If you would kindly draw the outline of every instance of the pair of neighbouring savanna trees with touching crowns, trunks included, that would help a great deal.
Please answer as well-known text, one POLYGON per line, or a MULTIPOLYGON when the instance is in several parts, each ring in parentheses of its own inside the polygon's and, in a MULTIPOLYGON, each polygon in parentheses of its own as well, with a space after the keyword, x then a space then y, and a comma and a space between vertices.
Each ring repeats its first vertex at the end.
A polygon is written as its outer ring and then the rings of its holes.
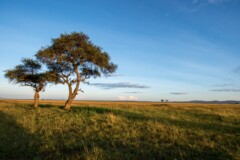
POLYGON ((78 92, 82 91, 81 82, 88 83, 91 77, 109 76, 117 69, 108 53, 94 45, 82 32, 61 34, 59 38, 52 39, 50 46, 40 49, 35 57, 24 58, 22 64, 5 71, 10 82, 33 88, 34 107, 38 107, 39 92, 44 91, 48 83, 53 83, 68 86, 65 109, 70 109, 78 92), (42 65, 46 66, 46 71, 41 70, 42 65))

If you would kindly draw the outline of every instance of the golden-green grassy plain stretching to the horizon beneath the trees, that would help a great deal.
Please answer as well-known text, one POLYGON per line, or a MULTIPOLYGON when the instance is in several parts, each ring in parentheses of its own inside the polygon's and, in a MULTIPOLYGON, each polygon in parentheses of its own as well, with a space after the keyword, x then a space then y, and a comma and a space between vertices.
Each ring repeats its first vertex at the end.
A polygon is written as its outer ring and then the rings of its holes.
POLYGON ((0 101, 0 159, 240 159, 239 104, 0 101))

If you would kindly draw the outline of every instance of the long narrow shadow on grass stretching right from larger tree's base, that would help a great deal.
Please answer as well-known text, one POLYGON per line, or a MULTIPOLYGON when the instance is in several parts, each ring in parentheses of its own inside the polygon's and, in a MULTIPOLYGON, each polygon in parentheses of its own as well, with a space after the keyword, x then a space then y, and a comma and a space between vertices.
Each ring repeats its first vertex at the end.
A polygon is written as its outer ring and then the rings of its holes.
MULTIPOLYGON (((174 125, 180 128, 185 128, 189 130, 205 130, 205 131, 211 131, 215 133, 236 133, 237 130, 240 129, 240 127, 236 126, 230 126, 227 124, 221 123, 221 121, 215 122, 214 119, 217 119, 215 115, 213 117, 209 114, 206 115, 206 119, 209 119, 209 123, 204 121, 186 121, 184 119, 182 120, 175 120, 171 119, 170 117, 162 117, 162 116, 147 116, 142 113, 137 112, 131 112, 131 111, 125 111, 125 110, 116 110, 116 109, 109 109, 109 108, 101 108, 101 107, 72 107, 72 112, 84 112, 84 113, 96 113, 96 114, 104 114, 104 113, 113 113, 118 116, 122 116, 124 118, 127 118, 129 120, 135 120, 135 121, 157 121, 163 124, 167 125, 174 125), (215 116, 215 117, 214 117, 215 116)), ((205 114, 193 114, 193 116, 199 116, 203 118, 205 114)))

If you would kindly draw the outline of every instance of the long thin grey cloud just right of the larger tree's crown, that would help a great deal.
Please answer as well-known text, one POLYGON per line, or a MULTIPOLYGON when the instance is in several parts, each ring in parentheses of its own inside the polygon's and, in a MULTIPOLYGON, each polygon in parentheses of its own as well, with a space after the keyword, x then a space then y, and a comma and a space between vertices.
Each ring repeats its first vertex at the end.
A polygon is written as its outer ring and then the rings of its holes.
POLYGON ((103 89, 114 89, 114 88, 138 88, 138 89, 146 89, 150 88, 150 86, 134 84, 128 82, 119 82, 119 83, 92 83, 92 86, 100 87, 103 89))

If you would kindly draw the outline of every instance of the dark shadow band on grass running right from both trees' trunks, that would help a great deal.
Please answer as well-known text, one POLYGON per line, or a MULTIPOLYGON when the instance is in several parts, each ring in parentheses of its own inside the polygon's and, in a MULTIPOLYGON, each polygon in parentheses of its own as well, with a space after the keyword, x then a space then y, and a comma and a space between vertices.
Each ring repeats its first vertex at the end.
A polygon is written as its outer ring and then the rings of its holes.
MULTIPOLYGON (((56 107, 58 109, 64 110, 64 106, 53 106, 53 105, 40 105, 40 108, 52 108, 56 107)), ((197 117, 198 120, 187 121, 184 119, 171 119, 166 116, 149 116, 144 115, 143 113, 119 110, 119 109, 111 109, 111 108, 103 108, 103 107, 92 107, 92 106, 81 106, 81 107, 71 107, 70 113, 83 113, 83 114, 105 114, 105 113, 113 113, 115 115, 127 118, 133 121, 154 121, 160 122, 166 125, 173 125, 184 129, 189 130, 204 130, 207 132, 219 133, 219 134, 236 134, 237 130, 240 130, 240 127, 236 125, 232 126, 229 124, 222 123, 222 120, 218 115, 206 114, 206 113, 195 113, 195 112, 183 112, 182 114, 187 115, 189 117, 197 117), (207 120, 204 121, 204 120, 207 120)))

